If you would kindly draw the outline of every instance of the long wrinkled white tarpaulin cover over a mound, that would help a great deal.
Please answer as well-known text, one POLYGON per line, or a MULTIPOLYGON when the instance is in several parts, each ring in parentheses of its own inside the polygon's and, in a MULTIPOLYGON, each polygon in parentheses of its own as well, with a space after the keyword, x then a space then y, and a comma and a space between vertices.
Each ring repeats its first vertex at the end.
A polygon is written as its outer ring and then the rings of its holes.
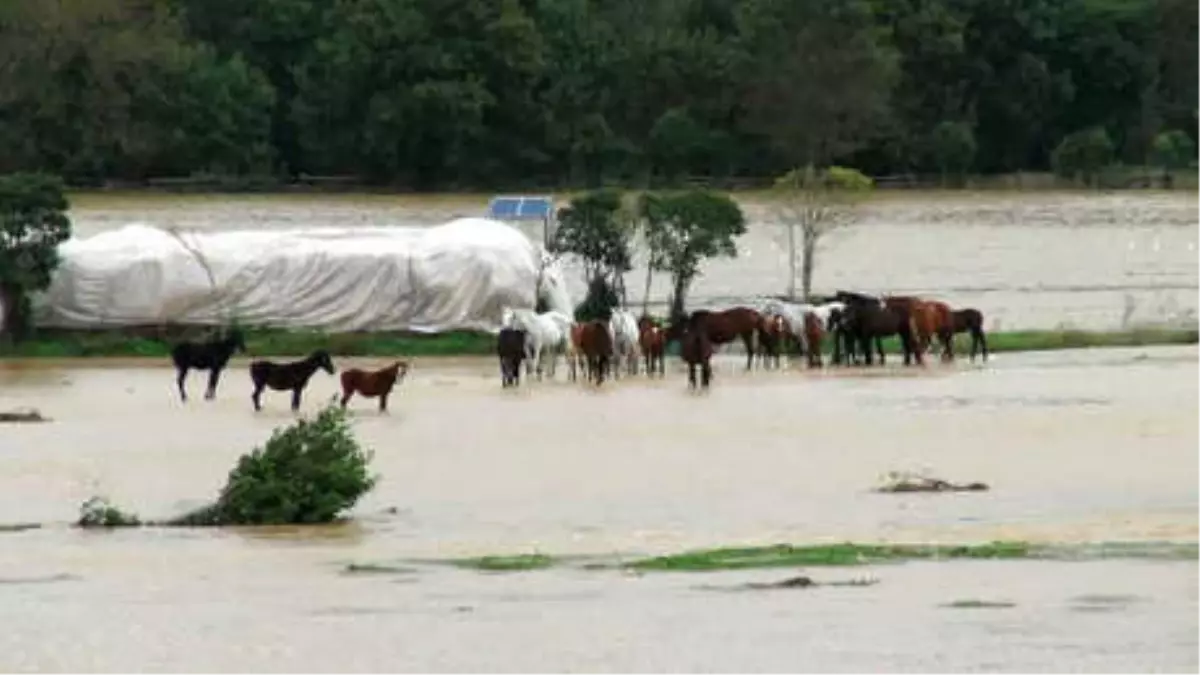
MULTIPOLYGON (((62 264, 36 300, 40 325, 496 330, 505 305, 534 306, 544 259, 517 228, 479 217, 178 234, 130 225, 59 251, 62 264)), ((570 312, 565 288, 558 268, 546 268, 542 297, 570 312)))

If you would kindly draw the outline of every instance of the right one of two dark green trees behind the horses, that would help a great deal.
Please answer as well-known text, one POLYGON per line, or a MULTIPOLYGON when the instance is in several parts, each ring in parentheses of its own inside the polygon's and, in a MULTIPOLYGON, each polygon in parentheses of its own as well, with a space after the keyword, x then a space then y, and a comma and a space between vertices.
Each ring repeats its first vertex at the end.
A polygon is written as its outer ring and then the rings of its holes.
POLYGON ((746 231, 745 215, 737 202, 710 190, 648 192, 638 210, 650 267, 671 274, 671 316, 680 316, 701 263, 718 256, 737 257, 737 238, 746 231))

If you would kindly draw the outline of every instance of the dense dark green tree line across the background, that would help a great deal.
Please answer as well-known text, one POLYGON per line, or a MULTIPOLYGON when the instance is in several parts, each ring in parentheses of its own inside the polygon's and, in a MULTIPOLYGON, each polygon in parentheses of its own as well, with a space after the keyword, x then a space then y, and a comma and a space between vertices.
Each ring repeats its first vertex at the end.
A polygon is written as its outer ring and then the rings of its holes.
POLYGON ((0 173, 76 184, 995 173, 1171 131, 1195 0, 0 2, 0 173))

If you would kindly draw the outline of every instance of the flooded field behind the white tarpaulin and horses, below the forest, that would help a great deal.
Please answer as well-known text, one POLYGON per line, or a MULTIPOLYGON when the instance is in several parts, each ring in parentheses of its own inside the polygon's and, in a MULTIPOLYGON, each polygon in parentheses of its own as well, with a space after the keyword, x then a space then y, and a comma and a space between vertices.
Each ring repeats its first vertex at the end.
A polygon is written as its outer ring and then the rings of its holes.
MULTIPOLYGON (((724 304, 787 286, 784 231, 761 199, 737 259, 706 264, 697 303, 724 304)), ((437 225, 482 215, 487 196, 137 196, 73 202, 80 235, 144 222, 181 228, 437 225)), ((541 237, 540 226, 527 232, 541 237)), ((899 193, 832 234, 818 291, 929 293, 983 309, 991 330, 1189 325, 1200 307, 1200 196, 1189 192, 899 193)), ((626 277, 640 303, 644 256, 626 277)), ((570 275, 582 298, 580 274, 570 275)), ((666 279, 650 299, 665 300, 666 279)))

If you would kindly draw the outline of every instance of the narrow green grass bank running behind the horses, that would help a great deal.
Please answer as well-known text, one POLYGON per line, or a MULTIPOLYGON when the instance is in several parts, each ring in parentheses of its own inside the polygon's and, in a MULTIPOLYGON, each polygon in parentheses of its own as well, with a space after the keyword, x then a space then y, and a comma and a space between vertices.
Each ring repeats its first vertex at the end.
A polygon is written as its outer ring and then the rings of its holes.
MULTIPOLYGON (((494 353, 496 338, 488 333, 457 330, 436 335, 413 333, 341 333, 317 330, 246 329, 246 348, 252 356, 302 357, 328 350, 341 357, 460 357, 494 353)), ((25 342, 0 342, 0 358, 146 357, 168 358, 182 335, 150 336, 134 330, 38 330, 25 342)), ((198 334, 193 334, 198 336, 198 334)), ((1138 347, 1200 344, 1200 330, 1142 328, 1133 330, 1020 330, 988 336, 990 352, 1070 350, 1081 347, 1138 347)), ((887 353, 900 353, 895 339, 883 344, 887 353)), ((970 353, 965 335, 955 340, 955 353, 970 353)), ((829 345, 826 345, 829 351, 829 345)))

